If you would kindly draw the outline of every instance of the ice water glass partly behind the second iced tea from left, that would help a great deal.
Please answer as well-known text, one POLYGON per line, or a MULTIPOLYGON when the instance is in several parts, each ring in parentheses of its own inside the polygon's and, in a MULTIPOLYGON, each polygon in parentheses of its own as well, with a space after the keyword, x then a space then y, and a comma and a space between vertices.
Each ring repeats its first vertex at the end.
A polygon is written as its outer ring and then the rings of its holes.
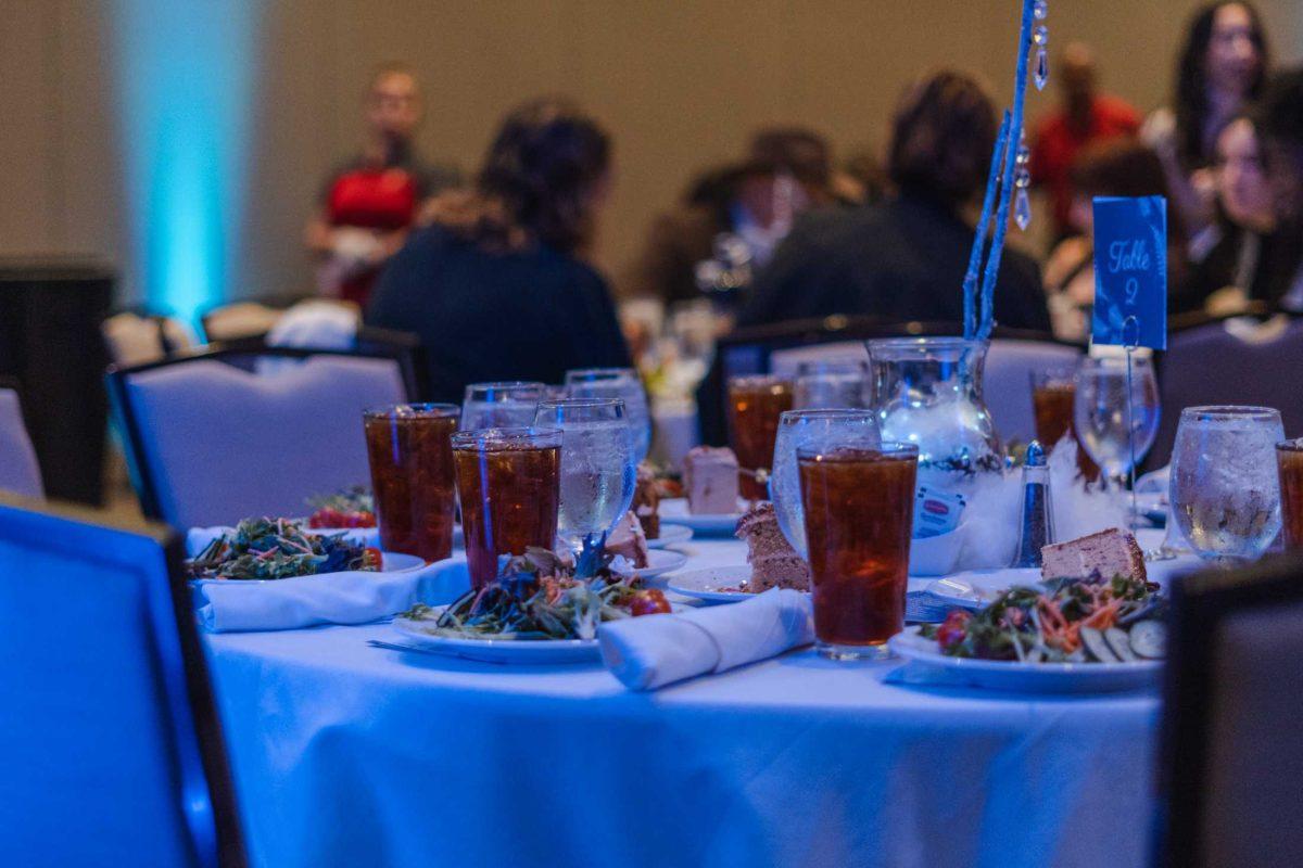
POLYGON ((543 401, 534 424, 562 432, 556 535, 577 554, 586 537, 610 531, 633 502, 635 432, 619 398, 543 401))

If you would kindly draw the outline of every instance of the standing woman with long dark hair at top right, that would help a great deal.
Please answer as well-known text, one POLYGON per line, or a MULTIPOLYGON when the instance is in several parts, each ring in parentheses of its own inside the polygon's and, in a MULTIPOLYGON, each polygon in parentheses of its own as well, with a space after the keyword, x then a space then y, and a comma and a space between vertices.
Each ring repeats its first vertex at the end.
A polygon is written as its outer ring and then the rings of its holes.
POLYGON ((1204 7, 1181 48, 1171 107, 1151 115, 1140 131, 1162 160, 1194 259, 1216 241, 1204 230, 1216 221, 1217 134, 1263 92, 1268 64, 1267 35, 1252 5, 1222 0, 1204 7))

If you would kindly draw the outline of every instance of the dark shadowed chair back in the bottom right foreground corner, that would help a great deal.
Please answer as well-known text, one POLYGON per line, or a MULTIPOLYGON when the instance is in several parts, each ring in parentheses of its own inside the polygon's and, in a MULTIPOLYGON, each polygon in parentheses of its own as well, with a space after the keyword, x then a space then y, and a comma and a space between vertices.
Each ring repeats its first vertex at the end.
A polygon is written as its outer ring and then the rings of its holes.
POLYGON ((1154 864, 1303 854, 1303 561, 1174 583, 1154 864))

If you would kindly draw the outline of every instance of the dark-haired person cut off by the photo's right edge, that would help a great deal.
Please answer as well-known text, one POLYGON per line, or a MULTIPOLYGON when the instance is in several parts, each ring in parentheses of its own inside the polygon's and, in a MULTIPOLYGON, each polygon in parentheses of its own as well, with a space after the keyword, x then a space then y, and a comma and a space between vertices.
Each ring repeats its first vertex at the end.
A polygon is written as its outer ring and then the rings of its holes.
POLYGON ((1259 130, 1267 156, 1280 243, 1293 252, 1277 298, 1281 307, 1303 311, 1303 66, 1272 79, 1259 107, 1259 130))

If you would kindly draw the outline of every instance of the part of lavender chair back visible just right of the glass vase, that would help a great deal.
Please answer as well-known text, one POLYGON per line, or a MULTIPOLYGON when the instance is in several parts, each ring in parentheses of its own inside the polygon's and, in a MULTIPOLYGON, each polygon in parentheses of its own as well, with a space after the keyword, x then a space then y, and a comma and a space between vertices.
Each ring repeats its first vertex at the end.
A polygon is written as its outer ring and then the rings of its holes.
MULTIPOLYGON (((1031 441, 1036 436, 1032 375, 1071 364, 1081 347, 1053 341, 994 338, 986 351, 982 400, 1001 440, 1031 441)), ((1046 449, 1054 444, 1041 444, 1046 449)))

